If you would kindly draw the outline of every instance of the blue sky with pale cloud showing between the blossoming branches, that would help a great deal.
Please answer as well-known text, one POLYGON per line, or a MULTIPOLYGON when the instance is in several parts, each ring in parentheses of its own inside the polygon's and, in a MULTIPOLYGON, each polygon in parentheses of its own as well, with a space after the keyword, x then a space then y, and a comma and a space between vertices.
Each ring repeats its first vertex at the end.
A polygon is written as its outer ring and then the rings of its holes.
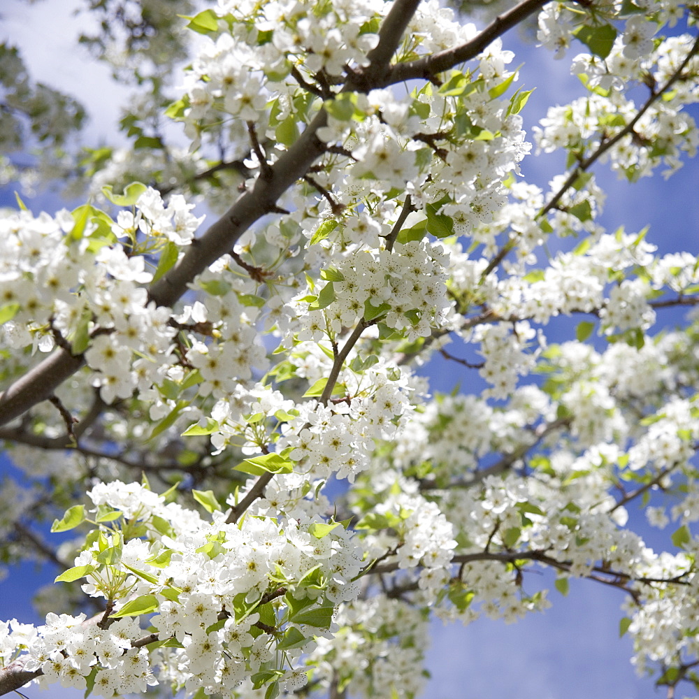
MULTIPOLYGON (((124 90, 110 86, 108 71, 73 47, 77 25, 71 17, 71 8, 77 5, 75 0, 44 0, 32 5, 4 0, 0 10, 4 14, 0 18, 0 40, 8 37, 20 45, 36 79, 72 92, 86 103, 92 114, 87 140, 94 141, 115 133, 117 107, 124 90)), ((505 45, 517 53, 515 65, 525 63, 519 85, 524 85, 524 89, 537 88, 524 110, 531 133, 531 125, 545 114, 547 106, 577 96, 580 86, 577 78, 568 75, 568 60, 554 61, 547 52, 533 50, 531 45, 522 47, 515 34, 505 38, 505 45)), ((698 117, 696 110, 694 115, 698 117)), ((526 159, 522 171, 528 181, 545 185, 551 175, 561 172, 561 166, 561 154, 542 155, 526 159)), ((662 252, 699 252, 696 163, 687 163, 667 182, 657 177, 635 185, 617 180, 606 166, 598 166, 596 172, 607 191, 601 222, 608 230, 623 224, 627 231, 633 232, 649 224, 647 240, 658 245, 662 252)), ((0 191, 0 203, 13 201, 11 188, 0 191)), ((27 203, 34 210, 52 210, 57 206, 52 196, 41 196, 27 203)), ((680 317, 677 313, 661 316, 658 324, 675 324, 680 317)), ((573 319, 557 326, 561 337, 552 339, 562 340, 568 333, 572 335, 575 322, 573 319)), ((425 372, 434 390, 451 390, 455 377, 461 379, 464 389, 473 387, 477 391, 480 386, 473 370, 469 372, 442 360, 430 363, 425 372)), ((637 531, 647 536, 654 547, 660 548, 669 540, 672 527, 665 532, 649 531, 637 513, 631 512, 631 519, 637 531)), ((29 605, 31 590, 54 576, 55 571, 50 568, 37 570, 31 564, 11 570, 10 577, 0 583, 0 616, 35 621, 29 605)), ((550 586, 550 582, 538 573, 525 577, 528 589, 550 586)), ((435 622, 428 650, 428 668, 433 679, 425 696, 440 699, 664 696, 654 689, 652 682, 635 676, 629 663, 630 639, 619 639, 621 592, 589 581, 572 581, 568 598, 562 598, 556 591, 551 591, 549 598, 554 603, 552 609, 510 626, 489 619, 480 619, 467 628, 445 627, 435 622)), ((31 696, 38 693, 32 690, 31 696)), ((48 696, 62 699, 77 697, 78 693, 57 687, 48 696)))

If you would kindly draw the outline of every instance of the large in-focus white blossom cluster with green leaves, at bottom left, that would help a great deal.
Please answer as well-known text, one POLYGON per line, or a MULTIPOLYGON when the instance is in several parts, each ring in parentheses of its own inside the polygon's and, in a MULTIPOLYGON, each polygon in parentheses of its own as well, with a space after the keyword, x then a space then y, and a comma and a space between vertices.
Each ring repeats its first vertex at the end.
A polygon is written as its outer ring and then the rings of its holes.
POLYGON ((120 482, 98 484, 89 496, 94 516, 110 525, 59 579, 84 577, 83 590, 106 598, 111 616, 50 614, 37 628, 0 626, 0 657, 8 663, 22 653, 24 668, 41 670, 42 682, 78 689, 89 682, 111 697, 174 681, 168 665, 186 675, 190 692, 232 691, 259 673, 260 684, 293 680, 313 635, 331 630, 336 605, 359 591, 352 578, 361 552, 342 524, 267 517, 229 524, 202 493, 214 512, 207 521, 120 482), (153 611, 147 637, 138 617, 153 611), (159 640, 158 678, 143 637, 159 640))

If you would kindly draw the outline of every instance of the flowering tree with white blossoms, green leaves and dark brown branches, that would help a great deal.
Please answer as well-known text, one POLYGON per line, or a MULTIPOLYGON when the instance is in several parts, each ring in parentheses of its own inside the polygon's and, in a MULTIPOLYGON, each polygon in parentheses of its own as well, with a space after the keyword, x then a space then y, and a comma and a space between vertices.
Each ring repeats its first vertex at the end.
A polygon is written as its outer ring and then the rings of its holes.
POLYGON ((623 590, 638 667, 699 686, 699 319, 654 330, 699 303, 699 261, 604 231, 591 171, 696 153, 698 6, 523 0, 479 30, 437 0, 89 4, 112 21, 85 41, 140 86, 129 150, 69 159, 82 109, 1 49, 3 138, 44 146, 5 177, 90 191, 0 219, 24 472, 1 551, 62 570, 45 624, 0 621, 0 693, 413 697, 428 620, 541 610, 533 568, 623 590), (582 81, 535 129, 567 154, 547 190, 519 173, 530 92, 501 38, 533 20, 582 81), (559 315, 577 328, 547 343, 559 315), (488 388, 431 396, 435 352, 488 388), (629 503, 675 520, 675 553, 629 503))

